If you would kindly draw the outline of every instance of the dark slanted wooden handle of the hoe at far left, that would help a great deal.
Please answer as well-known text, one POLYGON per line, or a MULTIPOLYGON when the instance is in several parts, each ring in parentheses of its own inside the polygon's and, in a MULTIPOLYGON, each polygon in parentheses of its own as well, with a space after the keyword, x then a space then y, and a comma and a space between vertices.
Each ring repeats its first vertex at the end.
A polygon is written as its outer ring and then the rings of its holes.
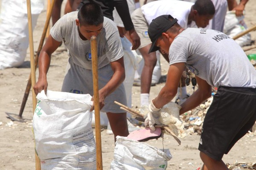
MULTIPOLYGON (((40 43, 39 43, 39 46, 38 46, 38 50, 37 50, 36 55, 35 55, 35 69, 37 68, 37 65, 38 65, 38 57, 39 57, 40 51, 41 51, 41 49, 43 48, 43 45, 44 45, 44 39, 45 39, 45 36, 46 36, 46 33, 47 33, 47 28, 49 26, 49 22, 50 22, 50 19, 51 19, 51 16, 52 16, 52 8, 54 6, 54 3, 55 3, 55 0, 52 0, 51 6, 50 6, 50 9, 49 9, 49 13, 47 14, 47 18, 46 18, 46 21, 45 21, 44 30, 43 30, 43 33, 42 33, 42 36, 41 36, 41 40, 40 40, 40 43)), ((23 100, 22 100, 22 103, 21 103, 21 106, 20 106, 20 113, 19 113, 19 116, 18 116, 19 118, 22 117, 22 113, 24 111, 26 101, 27 101, 28 96, 29 96, 30 89, 31 89, 31 73, 29 74, 29 80, 28 80, 26 90, 25 90, 25 93, 24 93, 24 96, 23 96, 23 100)))

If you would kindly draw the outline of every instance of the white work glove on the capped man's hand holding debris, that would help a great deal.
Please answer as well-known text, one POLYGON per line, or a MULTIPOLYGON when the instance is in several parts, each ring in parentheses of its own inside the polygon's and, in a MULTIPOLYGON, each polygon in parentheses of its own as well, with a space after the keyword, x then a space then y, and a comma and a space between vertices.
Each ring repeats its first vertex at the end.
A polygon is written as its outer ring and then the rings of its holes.
POLYGON ((162 125, 162 123, 159 121, 159 117, 161 113, 160 113, 160 109, 156 108, 152 101, 148 105, 149 112, 147 114, 147 118, 145 119, 145 127, 149 126, 151 130, 156 130, 156 128, 154 127, 154 124, 162 125))

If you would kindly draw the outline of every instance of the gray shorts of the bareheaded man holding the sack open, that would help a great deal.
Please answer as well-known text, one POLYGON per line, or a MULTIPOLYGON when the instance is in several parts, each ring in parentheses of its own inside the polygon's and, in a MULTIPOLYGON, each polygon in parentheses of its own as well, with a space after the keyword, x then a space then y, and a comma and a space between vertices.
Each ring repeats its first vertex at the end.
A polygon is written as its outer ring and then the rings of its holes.
MULTIPOLYGON (((113 71, 110 64, 98 69, 99 89, 103 88, 107 84, 112 75, 113 71)), ((61 91, 76 94, 90 94, 93 96, 92 70, 81 68, 74 64, 72 59, 69 58, 61 91)), ((124 113, 125 111, 121 110, 120 106, 116 105, 114 101, 127 105, 123 83, 105 98, 105 106, 101 111, 106 113, 124 113)))

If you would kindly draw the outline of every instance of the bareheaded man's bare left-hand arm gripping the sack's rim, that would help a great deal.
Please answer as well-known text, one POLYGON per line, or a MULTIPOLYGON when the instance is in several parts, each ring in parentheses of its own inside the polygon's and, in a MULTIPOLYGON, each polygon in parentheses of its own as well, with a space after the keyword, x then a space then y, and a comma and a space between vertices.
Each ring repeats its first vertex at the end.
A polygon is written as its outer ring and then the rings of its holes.
POLYGON ((49 70, 50 62, 51 62, 51 55, 52 53, 58 48, 58 46, 61 44, 61 42, 58 42, 52 38, 51 35, 49 35, 47 42, 43 46, 39 58, 38 58, 38 70, 39 70, 39 76, 38 76, 38 82, 34 85, 34 91, 37 95, 42 90, 45 92, 47 91, 47 72, 49 70))

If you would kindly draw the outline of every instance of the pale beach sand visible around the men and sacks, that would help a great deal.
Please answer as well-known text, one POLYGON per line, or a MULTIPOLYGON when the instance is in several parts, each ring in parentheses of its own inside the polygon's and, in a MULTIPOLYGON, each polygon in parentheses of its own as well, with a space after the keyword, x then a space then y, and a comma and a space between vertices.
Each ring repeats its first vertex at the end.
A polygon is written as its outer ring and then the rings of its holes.
MULTIPOLYGON (((33 33, 34 50, 38 45, 43 32, 46 20, 45 10, 40 14, 33 33)), ((250 28, 256 25, 256 3, 250 0, 246 5, 245 23, 250 28)), ((251 31, 251 39, 256 40, 256 31, 251 31)), ((248 48, 253 46, 244 47, 248 48)), ((256 54, 256 48, 246 51, 246 54, 256 54)), ((30 74, 29 49, 24 64, 20 68, 8 68, 0 70, 0 170, 33 170, 35 169, 35 150, 34 139, 32 135, 32 93, 26 102, 23 111, 23 119, 12 121, 6 113, 17 118, 20 106, 23 100, 23 94, 26 89, 30 74)), ((61 91, 61 85, 64 78, 67 64, 67 52, 62 45, 52 55, 52 61, 47 74, 48 89, 52 91, 61 91)), ((161 59, 162 75, 166 75, 168 63, 161 59)), ((36 72, 38 77, 38 71, 36 72)), ((37 78, 36 78, 37 79, 37 78)), ((154 98, 162 88, 164 83, 151 87, 150 98, 154 98)), ((191 89, 191 87, 189 88, 191 89)), ((133 87, 133 108, 140 108, 140 87, 133 87)), ((113 135, 108 135, 106 130, 102 131, 102 157, 103 169, 108 170, 110 162, 113 160, 114 139, 113 135)), ((200 136, 193 133, 185 139, 181 139, 181 145, 171 136, 165 136, 164 139, 150 140, 146 143, 159 149, 169 149, 173 158, 168 162, 167 170, 195 170, 202 166, 199 157, 198 142, 200 136)), ((224 155, 225 163, 234 164, 235 162, 255 163, 256 162, 256 135, 247 133, 230 151, 224 155)))

